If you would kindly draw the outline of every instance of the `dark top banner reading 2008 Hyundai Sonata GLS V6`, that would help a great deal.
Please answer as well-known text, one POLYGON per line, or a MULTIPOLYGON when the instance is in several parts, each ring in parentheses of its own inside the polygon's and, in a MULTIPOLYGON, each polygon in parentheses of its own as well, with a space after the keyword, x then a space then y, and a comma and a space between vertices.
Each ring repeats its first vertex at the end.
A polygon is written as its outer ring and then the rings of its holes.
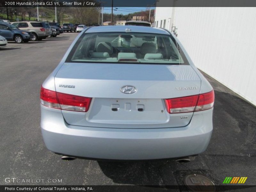
MULTIPOLYGON (((111 7, 112 0, 0 0, 0 7, 111 7)), ((113 0, 113 7, 256 7, 255 0, 113 0)))

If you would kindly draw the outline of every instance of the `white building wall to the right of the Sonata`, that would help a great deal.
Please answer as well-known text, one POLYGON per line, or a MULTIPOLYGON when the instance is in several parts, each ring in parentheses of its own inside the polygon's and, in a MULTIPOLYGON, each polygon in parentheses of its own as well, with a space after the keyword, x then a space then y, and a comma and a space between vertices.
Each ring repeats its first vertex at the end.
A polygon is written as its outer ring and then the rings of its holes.
POLYGON ((196 67, 256 105, 256 8, 175 7, 172 19, 196 67))

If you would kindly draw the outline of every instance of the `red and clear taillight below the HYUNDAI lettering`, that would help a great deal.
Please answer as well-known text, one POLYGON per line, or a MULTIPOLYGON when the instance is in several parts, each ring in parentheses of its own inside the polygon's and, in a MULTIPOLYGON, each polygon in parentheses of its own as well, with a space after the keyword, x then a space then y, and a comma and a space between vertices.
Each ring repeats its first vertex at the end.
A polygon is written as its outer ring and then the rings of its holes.
POLYGON ((59 93, 44 89, 40 92, 41 104, 56 109, 87 112, 89 110, 92 98, 59 93))

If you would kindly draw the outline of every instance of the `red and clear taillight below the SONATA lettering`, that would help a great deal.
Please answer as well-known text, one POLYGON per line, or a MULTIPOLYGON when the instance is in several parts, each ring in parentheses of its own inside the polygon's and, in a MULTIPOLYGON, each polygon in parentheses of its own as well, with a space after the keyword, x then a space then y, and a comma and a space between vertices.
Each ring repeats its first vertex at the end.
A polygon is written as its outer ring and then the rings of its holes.
POLYGON ((169 113, 186 113, 202 111, 213 107, 214 91, 199 95, 165 99, 166 108, 169 113))

